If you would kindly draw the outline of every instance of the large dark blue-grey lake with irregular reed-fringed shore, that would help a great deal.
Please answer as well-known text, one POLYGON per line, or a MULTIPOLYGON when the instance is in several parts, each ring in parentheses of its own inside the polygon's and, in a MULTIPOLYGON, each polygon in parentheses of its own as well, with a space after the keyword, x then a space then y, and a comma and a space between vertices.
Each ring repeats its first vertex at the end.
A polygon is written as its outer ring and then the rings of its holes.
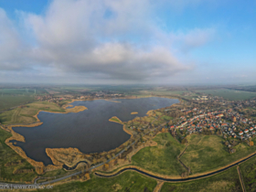
MULTIPOLYGON (((74 101, 73 106, 85 106, 83 112, 67 114, 39 112, 38 119, 43 122, 37 127, 14 127, 26 139, 26 143, 16 142, 28 157, 52 164, 46 154, 46 148, 78 148, 80 152, 89 154, 112 150, 130 138, 123 131, 123 125, 109 122, 117 116, 123 122, 134 117, 143 117, 146 112, 170 106, 178 100, 150 97, 141 99, 121 99, 121 102, 95 100, 74 101), (138 114, 131 114, 138 112, 138 114)), ((13 143, 15 141, 12 141, 13 143)))

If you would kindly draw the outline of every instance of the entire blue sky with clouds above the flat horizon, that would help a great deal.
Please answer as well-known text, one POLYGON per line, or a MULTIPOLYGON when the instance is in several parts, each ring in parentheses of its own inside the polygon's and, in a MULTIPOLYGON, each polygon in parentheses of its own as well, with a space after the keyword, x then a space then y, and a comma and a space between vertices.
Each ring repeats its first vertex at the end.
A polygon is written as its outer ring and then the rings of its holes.
POLYGON ((255 0, 0 0, 0 81, 254 83, 255 0))

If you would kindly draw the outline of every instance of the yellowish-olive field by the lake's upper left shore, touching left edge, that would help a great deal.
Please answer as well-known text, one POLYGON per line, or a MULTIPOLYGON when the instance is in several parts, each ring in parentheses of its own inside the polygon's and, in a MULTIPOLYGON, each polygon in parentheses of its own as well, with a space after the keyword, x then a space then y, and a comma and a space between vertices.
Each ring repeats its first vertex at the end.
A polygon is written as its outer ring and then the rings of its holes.
POLYGON ((14 123, 34 123, 36 118, 33 116, 37 114, 39 110, 48 112, 65 112, 63 109, 53 102, 48 101, 36 101, 27 104, 26 108, 16 108, 11 111, 0 113, 0 122, 3 124, 14 123))

